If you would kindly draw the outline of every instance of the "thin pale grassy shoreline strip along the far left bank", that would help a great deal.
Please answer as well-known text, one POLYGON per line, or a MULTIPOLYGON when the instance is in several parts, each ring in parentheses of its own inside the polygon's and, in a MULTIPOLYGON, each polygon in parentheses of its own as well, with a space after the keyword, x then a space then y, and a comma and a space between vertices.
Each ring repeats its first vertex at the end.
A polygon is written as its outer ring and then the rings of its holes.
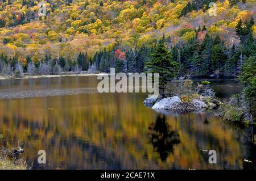
POLYGON ((108 75, 108 73, 97 73, 97 74, 89 74, 89 73, 81 73, 81 74, 60 74, 60 75, 24 75, 24 77, 17 78, 15 76, 10 75, 0 75, 0 80, 6 79, 32 79, 32 78, 55 78, 55 77, 87 77, 87 76, 96 76, 96 75, 108 75))

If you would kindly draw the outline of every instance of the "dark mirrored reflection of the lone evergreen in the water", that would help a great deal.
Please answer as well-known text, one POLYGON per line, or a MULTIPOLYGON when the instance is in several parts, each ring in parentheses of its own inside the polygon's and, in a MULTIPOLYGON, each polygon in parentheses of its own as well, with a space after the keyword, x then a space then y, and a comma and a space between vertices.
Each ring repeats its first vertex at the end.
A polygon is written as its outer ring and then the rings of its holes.
POLYGON ((174 145, 180 143, 179 134, 171 129, 171 125, 166 122, 166 116, 162 113, 148 129, 154 149, 159 153, 160 159, 166 161, 169 153, 174 153, 174 145))

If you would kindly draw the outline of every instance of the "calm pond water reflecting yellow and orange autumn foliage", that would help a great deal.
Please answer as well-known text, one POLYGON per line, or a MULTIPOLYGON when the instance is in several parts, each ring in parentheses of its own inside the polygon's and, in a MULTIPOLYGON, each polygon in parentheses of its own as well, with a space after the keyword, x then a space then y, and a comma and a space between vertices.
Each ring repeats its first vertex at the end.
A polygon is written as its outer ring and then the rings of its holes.
MULTIPOLYGON (((253 128, 222 123, 211 112, 158 113, 147 94, 98 94, 97 77, 0 81, 0 146, 19 145, 32 169, 248 169, 253 128), (46 150, 47 164, 37 163, 46 150), (208 163, 216 150, 217 164, 208 163)), ((236 81, 212 81, 219 98, 236 81)))

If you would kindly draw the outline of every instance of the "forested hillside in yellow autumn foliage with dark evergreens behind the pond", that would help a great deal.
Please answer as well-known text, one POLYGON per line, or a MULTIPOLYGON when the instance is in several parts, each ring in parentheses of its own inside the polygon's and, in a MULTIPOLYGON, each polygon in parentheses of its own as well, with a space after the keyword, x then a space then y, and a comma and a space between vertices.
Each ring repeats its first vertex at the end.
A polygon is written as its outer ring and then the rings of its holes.
POLYGON ((163 43, 180 73, 236 76, 255 51, 255 0, 0 1, 0 72, 144 71, 163 43), (46 16, 39 16, 42 4, 46 16), (209 14, 216 2, 216 16, 209 14))

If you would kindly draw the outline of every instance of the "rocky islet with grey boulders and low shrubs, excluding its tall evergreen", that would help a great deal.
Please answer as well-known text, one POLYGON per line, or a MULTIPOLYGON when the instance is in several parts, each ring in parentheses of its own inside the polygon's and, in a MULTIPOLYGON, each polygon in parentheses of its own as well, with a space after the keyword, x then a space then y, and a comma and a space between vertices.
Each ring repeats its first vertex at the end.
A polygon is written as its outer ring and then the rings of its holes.
MULTIPOLYGON (((217 108, 221 102, 215 98, 215 93, 209 86, 210 82, 202 81, 197 86, 193 86, 190 76, 180 77, 178 81, 172 83, 174 96, 163 99, 148 98, 144 104, 154 110, 167 110, 170 112, 189 113, 202 112, 208 109, 217 108), (174 88, 174 84, 179 84, 179 89, 174 88), (153 106, 152 106, 153 105, 153 106)), ((163 95, 161 95, 163 97, 163 95)))

